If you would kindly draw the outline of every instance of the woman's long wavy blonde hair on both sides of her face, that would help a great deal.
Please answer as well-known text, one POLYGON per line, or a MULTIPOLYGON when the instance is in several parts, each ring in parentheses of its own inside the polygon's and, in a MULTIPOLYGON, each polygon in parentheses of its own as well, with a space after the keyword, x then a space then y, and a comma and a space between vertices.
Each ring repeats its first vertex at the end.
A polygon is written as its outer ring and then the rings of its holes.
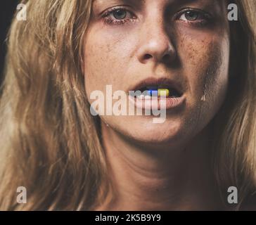
MULTIPOLYGON (((93 210, 113 188, 84 89, 83 43, 92 0, 21 1, 13 18, 0 102, 0 210, 93 210), (27 188, 27 204, 17 188, 27 188)), ((255 191, 256 2, 235 1, 228 96, 214 119, 212 165, 223 195, 255 191)), ((86 73, 86 72, 85 72, 86 73)))

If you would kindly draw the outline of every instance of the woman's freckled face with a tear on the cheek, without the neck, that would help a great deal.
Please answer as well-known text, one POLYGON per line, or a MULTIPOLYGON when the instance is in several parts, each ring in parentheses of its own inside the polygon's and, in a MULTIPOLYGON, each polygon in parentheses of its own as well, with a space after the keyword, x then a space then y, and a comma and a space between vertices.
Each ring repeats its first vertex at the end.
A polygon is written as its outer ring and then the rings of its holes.
MULTIPOLYGON (((154 88, 169 82, 165 87, 171 92, 172 84, 177 85, 182 100, 167 108, 160 124, 144 113, 101 115, 101 120, 141 143, 184 143, 206 127, 224 102, 228 85, 225 8, 224 1, 212 0, 95 0, 84 37, 89 102, 95 101, 90 99, 95 90, 107 98, 106 85, 112 85, 113 93, 128 94, 145 80, 153 81, 154 88)), ((134 104, 128 99, 127 111, 134 104)), ((114 105, 117 100, 112 101, 114 105)))

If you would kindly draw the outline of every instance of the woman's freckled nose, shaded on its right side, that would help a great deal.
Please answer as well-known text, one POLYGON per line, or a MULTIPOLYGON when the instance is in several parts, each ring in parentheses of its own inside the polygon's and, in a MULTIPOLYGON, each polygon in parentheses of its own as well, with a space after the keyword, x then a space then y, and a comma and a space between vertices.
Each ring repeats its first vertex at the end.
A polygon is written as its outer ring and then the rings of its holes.
POLYGON ((138 50, 138 59, 141 63, 167 63, 176 57, 170 34, 167 34, 162 21, 159 18, 151 20, 141 29, 141 44, 138 50))

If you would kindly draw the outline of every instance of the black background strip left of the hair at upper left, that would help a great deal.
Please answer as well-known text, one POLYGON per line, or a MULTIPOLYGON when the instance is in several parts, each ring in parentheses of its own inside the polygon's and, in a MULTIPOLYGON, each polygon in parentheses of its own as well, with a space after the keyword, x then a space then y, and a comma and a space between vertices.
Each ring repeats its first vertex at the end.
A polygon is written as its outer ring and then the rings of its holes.
POLYGON ((6 34, 11 24, 11 19, 20 1, 1 0, 0 7, 0 84, 4 72, 4 58, 6 56, 6 34))

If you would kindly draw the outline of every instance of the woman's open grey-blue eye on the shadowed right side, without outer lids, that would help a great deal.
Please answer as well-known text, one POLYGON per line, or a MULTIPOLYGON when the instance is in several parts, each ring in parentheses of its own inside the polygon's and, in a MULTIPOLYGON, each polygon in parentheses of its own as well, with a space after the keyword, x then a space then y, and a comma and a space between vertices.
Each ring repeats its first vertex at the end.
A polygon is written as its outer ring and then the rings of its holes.
POLYGON ((196 10, 188 10, 182 13, 179 16, 179 20, 187 21, 187 22, 206 22, 210 20, 210 16, 207 15, 207 13, 204 13, 203 11, 196 11, 196 10))

